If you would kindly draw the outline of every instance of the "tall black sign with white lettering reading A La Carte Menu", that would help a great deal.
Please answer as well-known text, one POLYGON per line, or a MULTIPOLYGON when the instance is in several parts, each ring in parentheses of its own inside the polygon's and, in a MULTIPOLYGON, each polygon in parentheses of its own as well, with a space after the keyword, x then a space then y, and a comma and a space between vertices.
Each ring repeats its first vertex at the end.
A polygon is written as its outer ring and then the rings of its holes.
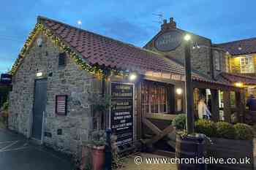
POLYGON ((133 85, 111 83, 110 125, 118 146, 133 140, 133 85))

